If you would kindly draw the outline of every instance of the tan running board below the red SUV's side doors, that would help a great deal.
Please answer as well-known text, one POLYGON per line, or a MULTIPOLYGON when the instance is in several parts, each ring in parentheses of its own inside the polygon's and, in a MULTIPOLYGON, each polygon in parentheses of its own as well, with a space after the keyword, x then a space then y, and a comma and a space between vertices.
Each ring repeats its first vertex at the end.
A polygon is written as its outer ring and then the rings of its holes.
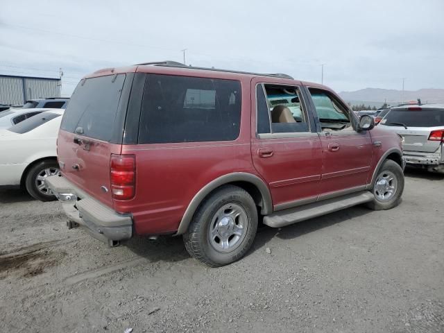
POLYGON ((359 191, 357 193, 340 196, 328 200, 310 203, 296 208, 289 208, 280 212, 264 216, 264 224, 271 228, 281 228, 286 225, 300 221, 312 219, 317 216, 343 210, 348 207, 368 203, 375 199, 375 196, 369 191, 359 191))

